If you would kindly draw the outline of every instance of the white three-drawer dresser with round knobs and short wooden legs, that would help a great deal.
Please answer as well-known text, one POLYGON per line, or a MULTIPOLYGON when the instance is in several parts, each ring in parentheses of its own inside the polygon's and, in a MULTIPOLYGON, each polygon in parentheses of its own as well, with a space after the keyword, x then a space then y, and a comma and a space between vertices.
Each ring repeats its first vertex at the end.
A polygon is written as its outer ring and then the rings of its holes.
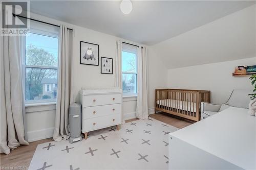
POLYGON ((121 89, 85 89, 79 91, 82 104, 82 133, 119 125, 122 123, 121 89))

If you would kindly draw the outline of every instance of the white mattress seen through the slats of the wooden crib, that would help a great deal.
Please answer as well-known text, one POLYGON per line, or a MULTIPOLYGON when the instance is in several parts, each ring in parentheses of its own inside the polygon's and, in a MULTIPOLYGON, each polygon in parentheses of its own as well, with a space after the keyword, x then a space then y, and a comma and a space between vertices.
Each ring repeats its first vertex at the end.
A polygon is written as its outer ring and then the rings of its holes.
POLYGON ((197 112, 197 103, 194 103, 194 102, 164 99, 164 100, 158 100, 157 104, 161 106, 171 107, 171 108, 185 110, 189 112, 197 112), (194 105, 194 108, 193 108, 193 105, 194 105))

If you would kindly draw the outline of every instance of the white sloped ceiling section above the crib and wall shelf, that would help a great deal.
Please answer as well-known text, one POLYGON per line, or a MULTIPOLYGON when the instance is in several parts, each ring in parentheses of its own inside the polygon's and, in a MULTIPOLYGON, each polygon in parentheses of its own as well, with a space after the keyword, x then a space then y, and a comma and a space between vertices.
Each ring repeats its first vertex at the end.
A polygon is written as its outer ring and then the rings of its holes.
POLYGON ((256 59, 255 15, 253 5, 153 45, 152 49, 167 68, 256 59))

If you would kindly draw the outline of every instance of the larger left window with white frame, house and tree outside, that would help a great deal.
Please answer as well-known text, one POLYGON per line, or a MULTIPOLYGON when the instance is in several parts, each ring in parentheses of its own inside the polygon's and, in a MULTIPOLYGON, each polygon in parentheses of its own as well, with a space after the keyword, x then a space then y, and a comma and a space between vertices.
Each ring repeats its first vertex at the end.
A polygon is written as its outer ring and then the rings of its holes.
POLYGON ((31 21, 22 38, 26 103, 56 101, 58 27, 31 21))

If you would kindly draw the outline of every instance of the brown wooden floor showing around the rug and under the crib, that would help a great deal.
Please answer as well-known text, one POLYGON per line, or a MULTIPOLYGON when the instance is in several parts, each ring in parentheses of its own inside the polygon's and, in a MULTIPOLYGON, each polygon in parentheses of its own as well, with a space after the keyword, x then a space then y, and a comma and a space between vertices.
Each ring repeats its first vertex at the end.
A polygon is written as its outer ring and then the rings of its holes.
MULTIPOLYGON (((194 121, 169 115, 167 113, 151 114, 150 116, 152 118, 160 120, 161 122, 164 122, 166 124, 172 125, 180 129, 195 123, 194 121)), ((133 120, 136 119, 127 120, 126 122, 132 122, 133 120)), ((15 169, 15 167, 18 166, 22 166, 21 169, 28 169, 31 159, 36 150, 37 144, 49 141, 52 141, 52 138, 31 142, 30 145, 23 145, 11 151, 9 155, 1 154, 0 169, 7 169, 6 167, 13 167, 13 169, 15 169)))

